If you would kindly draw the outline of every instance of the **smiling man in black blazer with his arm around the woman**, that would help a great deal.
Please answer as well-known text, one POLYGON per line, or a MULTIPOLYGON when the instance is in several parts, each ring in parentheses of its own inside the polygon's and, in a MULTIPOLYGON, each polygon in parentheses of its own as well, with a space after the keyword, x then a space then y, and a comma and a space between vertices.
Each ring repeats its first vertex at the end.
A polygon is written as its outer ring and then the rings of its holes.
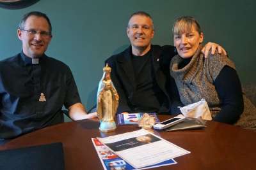
MULTIPOLYGON (((120 96, 117 113, 177 112, 174 103, 179 101, 179 94, 169 70, 170 60, 177 52, 174 46, 152 45, 154 34, 150 15, 144 11, 133 13, 127 25, 131 46, 105 61, 112 68, 111 79, 120 96)), ((214 53, 216 48, 225 54, 221 46, 207 43, 205 55, 210 49, 214 53)))

